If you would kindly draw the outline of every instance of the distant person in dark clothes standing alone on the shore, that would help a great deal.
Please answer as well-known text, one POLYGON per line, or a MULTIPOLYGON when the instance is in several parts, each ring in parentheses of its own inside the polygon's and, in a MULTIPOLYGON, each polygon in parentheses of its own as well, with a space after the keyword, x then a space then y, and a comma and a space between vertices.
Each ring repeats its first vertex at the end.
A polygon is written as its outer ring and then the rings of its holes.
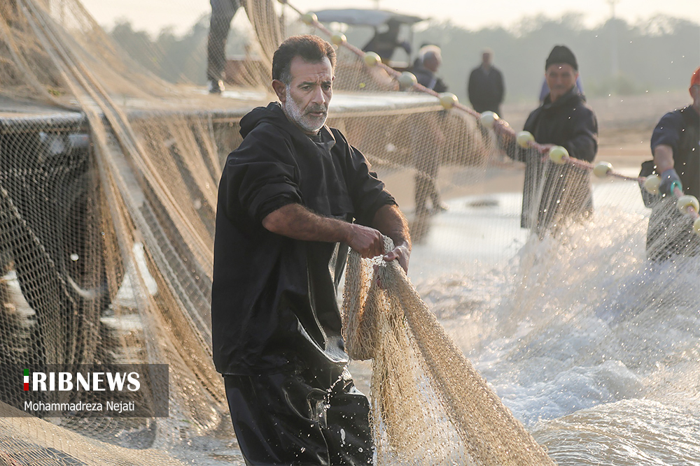
MULTIPOLYGON (((474 68, 469 75, 467 94, 472 108, 477 112, 490 110, 500 115, 500 104, 505 96, 503 74, 493 66, 493 52, 486 49, 482 52, 482 63, 474 68)), ((503 115, 500 115, 503 116, 503 115)))

